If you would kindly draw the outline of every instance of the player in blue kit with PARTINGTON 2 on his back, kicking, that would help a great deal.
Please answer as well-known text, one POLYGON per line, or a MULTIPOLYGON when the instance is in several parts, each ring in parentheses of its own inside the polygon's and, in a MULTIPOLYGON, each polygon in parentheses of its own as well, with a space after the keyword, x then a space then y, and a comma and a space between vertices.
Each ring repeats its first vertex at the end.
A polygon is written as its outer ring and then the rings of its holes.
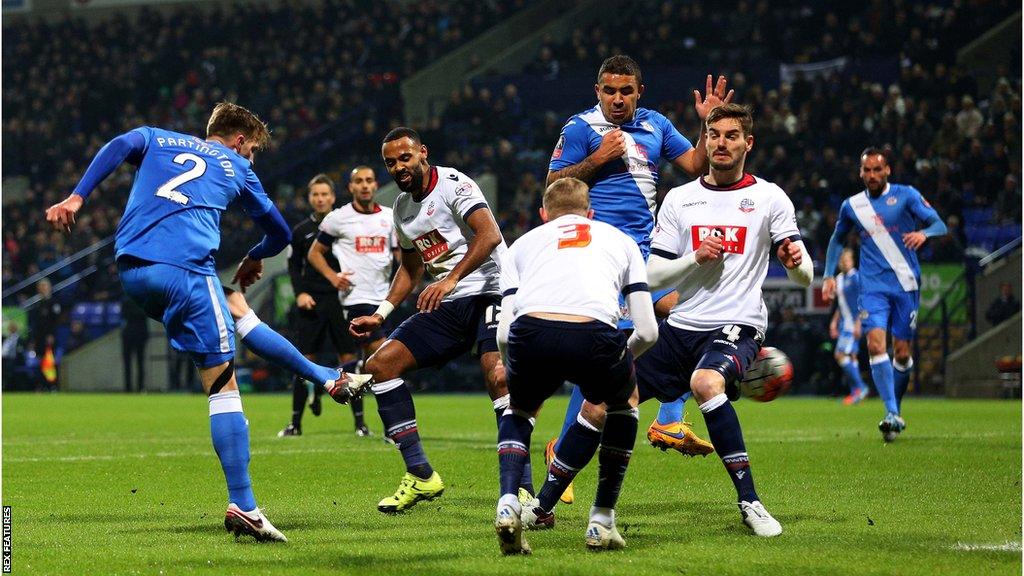
POLYGON ((291 240, 288 224, 252 170, 254 154, 268 141, 262 121, 227 102, 214 108, 205 140, 135 128, 99 151, 71 196, 47 209, 46 219, 71 233, 75 214, 100 181, 124 162, 138 166, 115 236, 121 284, 151 318, 163 322, 171 345, 189 353, 199 368, 209 395, 210 435, 227 482, 224 527, 236 536, 286 541, 257 507, 249 479, 249 424, 234 379, 232 312, 240 335, 255 352, 324 382, 338 399, 349 390, 337 370, 308 362, 259 322, 241 294, 225 297, 217 279, 220 215, 231 201, 240 199, 266 233, 234 275, 232 282, 243 290, 262 275, 262 258, 291 240))

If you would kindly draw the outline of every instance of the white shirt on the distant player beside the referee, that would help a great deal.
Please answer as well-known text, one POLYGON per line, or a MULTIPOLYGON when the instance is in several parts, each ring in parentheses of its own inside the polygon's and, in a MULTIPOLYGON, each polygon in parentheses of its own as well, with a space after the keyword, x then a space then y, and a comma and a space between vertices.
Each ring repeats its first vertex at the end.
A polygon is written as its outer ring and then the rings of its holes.
POLYGON ((359 212, 352 203, 332 210, 319 225, 321 236, 330 237, 331 252, 341 272, 351 272, 353 286, 338 292, 341 303, 381 303, 391 286, 392 250, 398 241, 391 209, 377 206, 372 213, 359 212))

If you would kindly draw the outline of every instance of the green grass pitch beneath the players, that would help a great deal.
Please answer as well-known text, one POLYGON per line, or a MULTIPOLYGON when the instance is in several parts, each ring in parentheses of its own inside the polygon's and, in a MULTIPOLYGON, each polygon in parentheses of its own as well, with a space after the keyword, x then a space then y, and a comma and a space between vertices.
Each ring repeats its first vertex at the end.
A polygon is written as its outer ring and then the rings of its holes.
MULTIPOLYGON (((684 460, 638 441, 620 500, 629 547, 583 546, 596 462, 534 556, 503 558, 495 421, 481 396, 419 396, 427 454, 444 496, 385 517, 397 452, 352 433, 348 409, 306 415, 274 438, 289 399, 244 399, 251 472, 287 544, 234 542, 201 396, 3 396, 3 503, 15 574, 1020 574, 1020 402, 909 400, 909 428, 881 442, 878 401, 737 404, 758 489, 785 532, 749 535, 716 457, 684 460), (1009 549, 998 549, 998 547, 1009 549)), ((561 423, 554 399, 535 462, 561 423)), ((370 422, 380 433, 373 400, 370 422)), ((641 435, 655 407, 641 407, 641 435)), ((691 406, 691 418, 703 424, 691 406)), ((639 440, 643 440, 642 436, 639 440)), ((540 466, 538 466, 540 468, 540 466)), ((540 479, 540 471, 535 474, 540 479)))

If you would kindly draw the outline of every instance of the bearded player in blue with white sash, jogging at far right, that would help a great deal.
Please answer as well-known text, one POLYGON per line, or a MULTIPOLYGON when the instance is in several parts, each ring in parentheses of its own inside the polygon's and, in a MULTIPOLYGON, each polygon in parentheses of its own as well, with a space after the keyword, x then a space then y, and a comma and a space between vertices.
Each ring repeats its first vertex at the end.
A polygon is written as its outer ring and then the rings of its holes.
POLYGON ((828 241, 821 296, 836 295, 836 263, 850 231, 860 235, 861 325, 867 333, 871 378, 886 405, 879 423, 886 442, 896 440, 906 423, 900 402, 910 381, 910 340, 916 328, 921 266, 916 250, 946 233, 946 224, 916 189, 889 182, 885 153, 869 148, 860 155, 860 179, 866 190, 843 202, 836 232, 828 241), (919 229, 921 223, 924 228, 919 229), (892 363, 886 331, 893 335, 892 363))

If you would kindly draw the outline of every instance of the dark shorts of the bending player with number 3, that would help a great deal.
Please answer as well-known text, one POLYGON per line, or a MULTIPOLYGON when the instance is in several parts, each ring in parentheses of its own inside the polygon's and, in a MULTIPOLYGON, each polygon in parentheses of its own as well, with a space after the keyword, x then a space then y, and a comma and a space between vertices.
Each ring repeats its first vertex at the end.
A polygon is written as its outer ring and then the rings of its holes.
POLYGON ((520 316, 509 329, 512 406, 532 412, 568 380, 593 404, 629 401, 636 380, 627 337, 603 322, 557 322, 520 316))

